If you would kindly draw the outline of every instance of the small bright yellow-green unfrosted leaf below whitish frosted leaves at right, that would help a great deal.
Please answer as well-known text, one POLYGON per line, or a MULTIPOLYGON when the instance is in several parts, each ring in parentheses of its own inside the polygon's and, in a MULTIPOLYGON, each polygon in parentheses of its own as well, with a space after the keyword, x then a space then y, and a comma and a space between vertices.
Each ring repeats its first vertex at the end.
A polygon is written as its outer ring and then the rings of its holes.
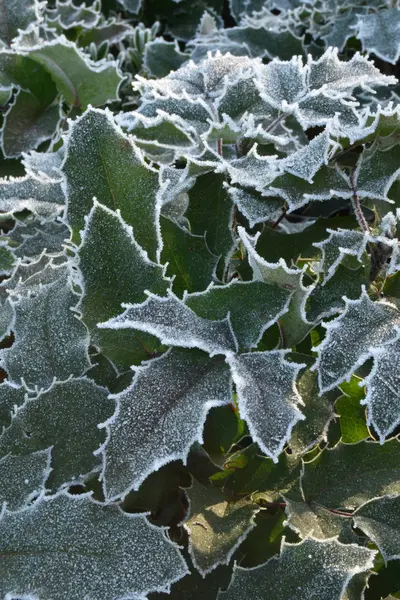
POLYGON ((360 379, 353 375, 348 383, 342 383, 340 389, 344 395, 338 398, 335 404, 335 412, 340 417, 342 442, 345 444, 356 444, 369 437, 365 409, 360 404, 365 395, 360 382, 360 379))

